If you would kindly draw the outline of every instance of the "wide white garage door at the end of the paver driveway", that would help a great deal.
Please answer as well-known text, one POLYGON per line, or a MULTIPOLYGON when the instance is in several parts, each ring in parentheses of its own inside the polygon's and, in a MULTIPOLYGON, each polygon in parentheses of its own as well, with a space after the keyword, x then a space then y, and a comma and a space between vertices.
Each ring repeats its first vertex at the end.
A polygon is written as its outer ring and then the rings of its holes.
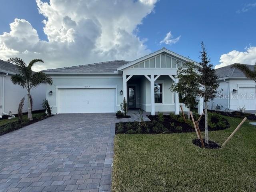
POLYGON ((113 113, 115 89, 58 89, 58 113, 113 113))

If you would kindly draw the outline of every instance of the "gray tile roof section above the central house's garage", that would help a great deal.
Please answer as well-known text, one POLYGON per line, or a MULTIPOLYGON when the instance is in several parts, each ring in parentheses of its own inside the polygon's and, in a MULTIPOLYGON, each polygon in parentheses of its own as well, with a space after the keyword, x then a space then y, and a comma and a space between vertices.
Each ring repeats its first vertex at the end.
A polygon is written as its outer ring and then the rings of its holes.
POLYGON ((118 67, 129 61, 116 60, 101 63, 92 63, 87 65, 77 65, 72 67, 62 67, 57 69, 43 70, 45 73, 113 73, 118 67))

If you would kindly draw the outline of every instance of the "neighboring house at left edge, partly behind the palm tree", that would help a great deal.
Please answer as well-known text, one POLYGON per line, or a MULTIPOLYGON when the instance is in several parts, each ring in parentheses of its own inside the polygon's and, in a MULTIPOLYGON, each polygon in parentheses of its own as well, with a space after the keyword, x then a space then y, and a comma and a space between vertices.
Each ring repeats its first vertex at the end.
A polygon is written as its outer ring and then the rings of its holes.
MULTIPOLYGON (((0 116, 18 113, 18 105, 22 97, 26 96, 23 112, 28 112, 27 90, 20 85, 14 85, 11 76, 19 73, 17 66, 0 60, 0 116)), ((46 84, 39 85, 31 91, 33 111, 42 109, 42 100, 46 98, 46 84)))

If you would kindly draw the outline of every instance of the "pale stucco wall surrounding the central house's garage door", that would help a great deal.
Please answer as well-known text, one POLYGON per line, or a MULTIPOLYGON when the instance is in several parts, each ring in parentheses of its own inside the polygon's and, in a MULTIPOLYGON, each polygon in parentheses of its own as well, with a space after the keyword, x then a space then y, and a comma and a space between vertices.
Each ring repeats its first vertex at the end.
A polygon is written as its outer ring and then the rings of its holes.
MULTIPOLYGON (((123 101, 123 95, 120 91, 123 89, 122 75, 50 75, 53 80, 52 85, 46 87, 46 97, 52 106, 52 113, 57 113, 56 106, 56 85, 116 85, 117 86, 117 105, 116 111, 120 110, 120 103, 123 101), (48 92, 52 91, 52 95, 48 92)), ((102 95, 104 97, 104 95, 102 95)))

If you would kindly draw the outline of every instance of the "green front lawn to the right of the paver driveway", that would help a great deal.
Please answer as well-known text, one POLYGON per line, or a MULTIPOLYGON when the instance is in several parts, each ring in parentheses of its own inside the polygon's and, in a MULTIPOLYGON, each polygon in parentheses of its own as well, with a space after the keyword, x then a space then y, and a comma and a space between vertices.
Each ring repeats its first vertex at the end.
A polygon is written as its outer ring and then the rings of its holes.
MULTIPOLYGON (((221 145, 238 125, 234 121, 242 121, 227 119, 231 127, 210 132, 211 141, 221 145)), ((195 133, 116 135, 112 191, 256 191, 256 126, 248 122, 221 149, 195 146, 195 133)))

